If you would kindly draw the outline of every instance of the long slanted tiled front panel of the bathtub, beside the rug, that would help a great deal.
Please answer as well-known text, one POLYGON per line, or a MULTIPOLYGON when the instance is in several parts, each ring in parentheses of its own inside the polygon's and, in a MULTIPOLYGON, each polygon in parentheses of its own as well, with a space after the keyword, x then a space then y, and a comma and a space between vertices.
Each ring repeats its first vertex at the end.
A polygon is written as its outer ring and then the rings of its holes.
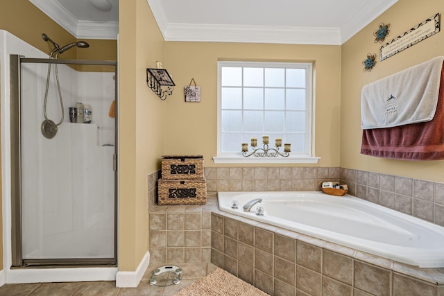
POLYGON ((211 235, 211 262, 270 295, 444 295, 444 268, 414 268, 219 210, 211 235))

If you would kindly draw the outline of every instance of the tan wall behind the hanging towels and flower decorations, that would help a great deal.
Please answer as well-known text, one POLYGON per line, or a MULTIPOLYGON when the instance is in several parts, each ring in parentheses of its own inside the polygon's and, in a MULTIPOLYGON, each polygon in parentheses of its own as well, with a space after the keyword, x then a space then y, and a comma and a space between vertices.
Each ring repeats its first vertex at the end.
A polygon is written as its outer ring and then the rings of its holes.
MULTIPOLYGON (((414 177, 444 182, 444 162, 409 162, 361 155, 361 89, 369 82, 384 78, 407 67, 443 55, 444 33, 429 37, 397 55, 379 62, 379 44, 373 42, 373 32, 379 23, 391 24, 388 41, 420 24, 425 19, 444 12, 442 0, 400 0, 366 28, 342 46, 341 73, 341 167, 363 171, 414 177), (377 53, 377 65, 363 71, 362 60, 367 53, 377 53)), ((441 21, 442 24, 442 21, 441 21)))

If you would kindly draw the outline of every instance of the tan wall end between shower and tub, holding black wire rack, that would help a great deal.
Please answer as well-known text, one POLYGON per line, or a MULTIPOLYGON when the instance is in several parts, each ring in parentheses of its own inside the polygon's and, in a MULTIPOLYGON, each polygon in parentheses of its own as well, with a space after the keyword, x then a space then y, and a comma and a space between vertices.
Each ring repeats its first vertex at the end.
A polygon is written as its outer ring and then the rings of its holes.
POLYGON ((119 270, 148 250, 148 174, 160 168, 163 101, 146 87, 146 68, 164 60, 164 40, 146 0, 120 2, 119 270))

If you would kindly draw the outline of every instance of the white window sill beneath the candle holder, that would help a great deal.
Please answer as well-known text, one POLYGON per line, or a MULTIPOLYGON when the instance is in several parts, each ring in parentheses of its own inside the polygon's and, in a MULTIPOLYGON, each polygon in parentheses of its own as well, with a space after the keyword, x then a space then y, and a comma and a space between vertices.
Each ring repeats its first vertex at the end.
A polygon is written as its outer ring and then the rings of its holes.
POLYGON ((321 157, 289 156, 289 157, 243 157, 215 156, 215 164, 317 164, 321 157))

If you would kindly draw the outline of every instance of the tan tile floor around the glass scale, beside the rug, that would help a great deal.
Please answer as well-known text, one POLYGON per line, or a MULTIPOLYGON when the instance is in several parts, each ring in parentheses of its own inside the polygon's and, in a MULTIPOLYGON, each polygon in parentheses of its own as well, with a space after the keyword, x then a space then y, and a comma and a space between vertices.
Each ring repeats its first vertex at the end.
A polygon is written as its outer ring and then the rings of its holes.
POLYGON ((6 284, 0 287, 0 296, 171 296, 182 288, 216 269, 212 263, 180 263, 183 277, 180 284, 168 287, 155 287, 149 284, 151 272, 163 263, 148 266, 142 281, 137 288, 116 288, 115 281, 91 281, 68 283, 6 284))

